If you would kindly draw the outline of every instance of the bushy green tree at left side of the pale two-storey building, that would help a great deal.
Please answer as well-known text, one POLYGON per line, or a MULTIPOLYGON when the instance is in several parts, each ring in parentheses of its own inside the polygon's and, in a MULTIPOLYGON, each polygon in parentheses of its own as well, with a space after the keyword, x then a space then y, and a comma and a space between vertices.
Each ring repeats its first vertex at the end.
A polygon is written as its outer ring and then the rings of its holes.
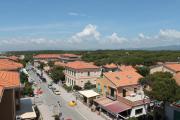
POLYGON ((50 70, 50 77, 53 79, 55 83, 59 82, 59 80, 65 80, 63 70, 64 68, 59 66, 53 67, 52 70, 50 70))

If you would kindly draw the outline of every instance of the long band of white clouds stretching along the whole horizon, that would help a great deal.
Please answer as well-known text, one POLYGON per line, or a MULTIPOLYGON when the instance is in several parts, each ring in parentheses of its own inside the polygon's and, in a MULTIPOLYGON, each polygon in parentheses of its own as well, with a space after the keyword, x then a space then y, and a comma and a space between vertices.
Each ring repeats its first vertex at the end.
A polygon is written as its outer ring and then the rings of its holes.
POLYGON ((161 29, 155 35, 139 33, 136 37, 123 37, 117 33, 102 35, 96 25, 88 24, 81 32, 64 39, 45 37, 16 37, 0 39, 0 50, 31 49, 124 49, 146 48, 180 44, 180 31, 161 29))

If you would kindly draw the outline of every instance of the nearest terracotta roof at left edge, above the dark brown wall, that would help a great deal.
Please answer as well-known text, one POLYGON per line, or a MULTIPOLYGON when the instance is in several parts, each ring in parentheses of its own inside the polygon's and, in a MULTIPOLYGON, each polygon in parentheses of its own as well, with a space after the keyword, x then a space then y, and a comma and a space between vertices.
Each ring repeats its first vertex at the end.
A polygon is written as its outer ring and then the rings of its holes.
POLYGON ((0 97, 6 88, 15 88, 20 86, 20 77, 18 72, 0 71, 0 97))

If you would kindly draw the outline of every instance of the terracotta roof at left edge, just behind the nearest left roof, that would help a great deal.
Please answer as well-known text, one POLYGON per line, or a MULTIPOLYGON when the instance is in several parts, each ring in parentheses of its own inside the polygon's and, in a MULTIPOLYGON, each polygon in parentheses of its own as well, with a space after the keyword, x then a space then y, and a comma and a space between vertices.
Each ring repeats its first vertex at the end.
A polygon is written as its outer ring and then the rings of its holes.
POLYGON ((12 60, 0 59, 0 70, 17 70, 23 65, 12 60))

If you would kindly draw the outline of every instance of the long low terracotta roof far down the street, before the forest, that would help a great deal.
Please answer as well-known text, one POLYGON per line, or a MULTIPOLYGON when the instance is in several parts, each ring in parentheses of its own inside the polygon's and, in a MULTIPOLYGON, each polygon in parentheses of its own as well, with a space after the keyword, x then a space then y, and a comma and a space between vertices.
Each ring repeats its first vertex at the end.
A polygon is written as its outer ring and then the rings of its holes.
POLYGON ((38 54, 38 55, 33 56, 33 58, 38 58, 38 59, 60 58, 60 54, 38 54))

